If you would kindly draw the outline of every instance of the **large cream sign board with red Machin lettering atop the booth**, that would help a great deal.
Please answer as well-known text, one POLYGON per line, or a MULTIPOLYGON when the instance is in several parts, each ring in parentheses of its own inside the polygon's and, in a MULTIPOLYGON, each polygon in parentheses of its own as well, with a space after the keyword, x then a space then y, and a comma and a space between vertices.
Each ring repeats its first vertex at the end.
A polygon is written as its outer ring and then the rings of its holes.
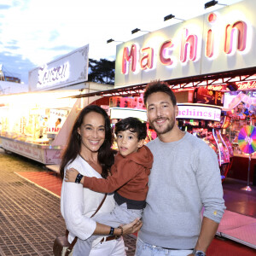
POLYGON ((255 67, 254 9, 245 0, 117 45, 115 86, 255 67))

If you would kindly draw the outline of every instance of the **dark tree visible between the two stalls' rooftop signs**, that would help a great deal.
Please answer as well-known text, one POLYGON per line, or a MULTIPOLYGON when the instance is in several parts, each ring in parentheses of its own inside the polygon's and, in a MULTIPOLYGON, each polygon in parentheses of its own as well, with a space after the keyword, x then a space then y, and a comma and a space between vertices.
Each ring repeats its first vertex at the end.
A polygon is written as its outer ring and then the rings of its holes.
POLYGON ((96 61, 89 59, 89 74, 88 80, 100 84, 113 84, 114 83, 114 65, 115 61, 108 61, 100 59, 96 61))

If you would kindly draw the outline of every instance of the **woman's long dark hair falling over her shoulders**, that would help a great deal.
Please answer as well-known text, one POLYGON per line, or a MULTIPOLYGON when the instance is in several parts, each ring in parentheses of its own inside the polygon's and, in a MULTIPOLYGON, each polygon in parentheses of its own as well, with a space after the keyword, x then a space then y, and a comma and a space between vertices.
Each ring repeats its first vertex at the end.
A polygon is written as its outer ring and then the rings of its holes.
POLYGON ((78 154, 80 154, 81 150, 81 136, 79 135, 78 129, 81 127, 84 121, 84 116, 87 113, 96 112, 101 113, 103 118, 105 119, 105 140, 102 144, 101 148, 98 151, 98 161, 102 166, 102 177, 108 176, 108 171, 110 167, 113 165, 113 154, 114 151, 111 149, 113 144, 113 133, 110 127, 110 120, 106 111, 98 107, 96 105, 90 105, 81 110, 78 118, 76 119, 71 134, 69 136, 69 141, 67 143, 67 148, 64 151, 61 158, 61 178, 64 177, 64 168, 67 166, 69 162, 73 162, 76 159, 78 154))

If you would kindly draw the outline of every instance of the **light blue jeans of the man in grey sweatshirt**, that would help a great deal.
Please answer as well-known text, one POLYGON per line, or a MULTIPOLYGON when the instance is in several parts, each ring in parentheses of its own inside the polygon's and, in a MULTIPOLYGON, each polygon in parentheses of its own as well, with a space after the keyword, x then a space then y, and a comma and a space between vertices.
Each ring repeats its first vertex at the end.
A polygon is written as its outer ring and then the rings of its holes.
POLYGON ((187 256, 190 253, 192 253, 192 250, 168 250, 137 238, 135 256, 187 256))

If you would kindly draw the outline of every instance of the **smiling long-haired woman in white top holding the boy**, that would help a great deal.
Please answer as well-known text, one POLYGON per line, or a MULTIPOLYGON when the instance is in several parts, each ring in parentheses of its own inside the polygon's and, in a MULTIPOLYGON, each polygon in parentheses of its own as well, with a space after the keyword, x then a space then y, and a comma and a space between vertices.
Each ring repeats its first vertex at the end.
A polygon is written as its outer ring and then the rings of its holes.
MULTIPOLYGON (((113 165, 112 143, 113 134, 108 114, 96 105, 87 106, 79 113, 73 125, 67 149, 61 161, 61 177, 63 178, 64 172, 72 167, 89 177, 107 177, 113 165)), ((96 223, 90 218, 101 204, 103 197, 102 193, 85 189, 82 184, 66 183, 63 180, 61 213, 69 230, 68 241, 72 242, 75 236, 79 238, 73 248, 73 256, 84 255, 79 247, 81 240, 91 235, 109 235, 109 226, 96 223)), ((113 195, 108 195, 96 214, 111 212, 113 207, 113 195)), ((90 251, 90 256, 125 255, 124 241, 122 237, 116 236, 136 232, 141 225, 140 221, 135 220, 123 226, 123 229, 112 230, 113 236, 108 236, 107 239, 99 236, 90 251)))

